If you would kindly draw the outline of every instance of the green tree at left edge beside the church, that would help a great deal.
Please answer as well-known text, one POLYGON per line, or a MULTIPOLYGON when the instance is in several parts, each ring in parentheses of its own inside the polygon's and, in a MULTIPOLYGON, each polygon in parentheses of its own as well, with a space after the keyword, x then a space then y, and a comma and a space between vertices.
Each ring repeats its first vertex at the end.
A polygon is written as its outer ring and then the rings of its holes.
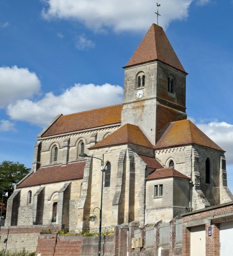
POLYGON ((14 185, 25 177, 30 171, 31 168, 26 168, 24 164, 19 162, 0 162, 0 188, 3 188, 4 185, 4 192, 8 192, 9 197, 14 190, 14 185))

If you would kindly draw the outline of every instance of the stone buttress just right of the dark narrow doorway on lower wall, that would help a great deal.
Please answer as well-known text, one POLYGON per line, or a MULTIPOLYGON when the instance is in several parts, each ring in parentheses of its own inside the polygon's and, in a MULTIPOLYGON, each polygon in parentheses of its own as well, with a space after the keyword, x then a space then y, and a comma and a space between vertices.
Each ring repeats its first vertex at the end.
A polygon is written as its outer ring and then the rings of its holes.
POLYGON ((69 206, 71 196, 71 182, 66 182, 58 192, 56 224, 64 224, 69 229, 69 206))

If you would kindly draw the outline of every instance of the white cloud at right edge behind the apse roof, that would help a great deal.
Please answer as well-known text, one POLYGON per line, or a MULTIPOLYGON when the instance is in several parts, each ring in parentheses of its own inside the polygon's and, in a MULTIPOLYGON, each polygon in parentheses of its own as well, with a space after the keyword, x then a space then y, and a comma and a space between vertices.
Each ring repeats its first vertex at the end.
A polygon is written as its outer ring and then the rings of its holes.
POLYGON ((196 124, 197 127, 212 139, 225 153, 227 164, 233 164, 233 125, 226 122, 196 124))

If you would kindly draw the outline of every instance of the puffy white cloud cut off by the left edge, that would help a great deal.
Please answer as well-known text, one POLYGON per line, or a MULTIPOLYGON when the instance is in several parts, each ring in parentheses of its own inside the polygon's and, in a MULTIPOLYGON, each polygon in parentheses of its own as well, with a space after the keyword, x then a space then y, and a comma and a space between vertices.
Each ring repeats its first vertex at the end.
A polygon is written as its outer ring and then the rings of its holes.
POLYGON ((0 78, 0 108, 16 100, 31 98, 41 88, 36 74, 27 68, 0 67, 0 78))

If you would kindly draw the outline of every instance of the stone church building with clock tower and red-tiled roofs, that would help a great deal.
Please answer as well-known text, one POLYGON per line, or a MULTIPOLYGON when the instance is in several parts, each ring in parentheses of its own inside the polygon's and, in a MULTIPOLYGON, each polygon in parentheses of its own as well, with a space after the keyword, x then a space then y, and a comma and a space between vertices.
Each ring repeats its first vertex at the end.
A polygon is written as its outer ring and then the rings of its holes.
POLYGON ((124 71, 122 104, 60 114, 37 136, 32 172, 8 200, 6 226, 98 230, 101 161, 80 153, 104 154, 104 230, 233 200, 224 150, 187 119, 187 73, 162 27, 152 24, 124 71))

